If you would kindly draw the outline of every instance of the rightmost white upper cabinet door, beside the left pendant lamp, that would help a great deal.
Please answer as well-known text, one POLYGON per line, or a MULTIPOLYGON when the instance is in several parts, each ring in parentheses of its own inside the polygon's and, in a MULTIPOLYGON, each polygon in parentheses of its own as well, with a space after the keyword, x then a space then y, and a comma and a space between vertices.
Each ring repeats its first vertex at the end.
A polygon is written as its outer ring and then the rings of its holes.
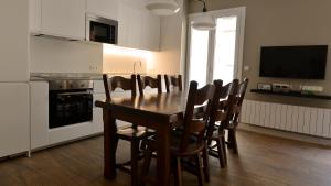
POLYGON ((141 39, 143 50, 160 50, 160 17, 157 17, 147 10, 142 13, 141 39))

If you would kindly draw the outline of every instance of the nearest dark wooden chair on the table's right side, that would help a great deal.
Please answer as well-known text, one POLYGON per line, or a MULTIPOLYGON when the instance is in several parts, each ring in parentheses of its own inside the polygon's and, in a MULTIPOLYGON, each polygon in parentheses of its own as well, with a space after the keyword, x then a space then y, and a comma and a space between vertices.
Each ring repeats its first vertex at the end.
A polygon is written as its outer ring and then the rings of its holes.
MULTIPOLYGON (((209 180, 209 165, 207 152, 205 145, 205 131, 207 119, 212 109, 212 99, 215 92, 214 85, 206 85, 197 89, 197 83, 191 81, 189 89, 189 97, 184 116, 182 118, 183 132, 181 135, 172 135, 171 138, 171 157, 172 157, 172 172, 174 174, 175 185, 182 185, 182 166, 183 158, 193 158, 195 162, 195 174, 199 178, 199 185, 204 185, 204 179, 209 180), (206 103, 202 118, 194 118, 194 107, 206 103), (202 163, 203 160, 203 163, 202 163), (203 176, 204 174, 204 176, 203 176)), ((147 176, 149 165, 151 162, 152 153, 156 151, 158 144, 154 139, 149 140, 147 150, 145 151, 145 162, 141 172, 141 180, 145 185, 146 182, 151 179, 147 176)), ((157 182, 153 182, 157 184, 157 182)))

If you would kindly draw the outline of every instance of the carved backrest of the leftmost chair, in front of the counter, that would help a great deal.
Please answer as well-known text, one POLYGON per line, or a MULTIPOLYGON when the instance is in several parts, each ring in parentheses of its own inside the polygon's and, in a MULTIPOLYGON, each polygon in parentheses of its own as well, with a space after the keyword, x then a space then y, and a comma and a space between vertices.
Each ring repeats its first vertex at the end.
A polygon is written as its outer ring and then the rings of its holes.
POLYGON ((131 96, 136 96, 136 75, 131 75, 131 78, 124 78, 121 76, 114 76, 108 78, 107 74, 103 75, 104 87, 106 92, 106 99, 110 100, 110 92, 116 88, 122 90, 131 90, 131 96))

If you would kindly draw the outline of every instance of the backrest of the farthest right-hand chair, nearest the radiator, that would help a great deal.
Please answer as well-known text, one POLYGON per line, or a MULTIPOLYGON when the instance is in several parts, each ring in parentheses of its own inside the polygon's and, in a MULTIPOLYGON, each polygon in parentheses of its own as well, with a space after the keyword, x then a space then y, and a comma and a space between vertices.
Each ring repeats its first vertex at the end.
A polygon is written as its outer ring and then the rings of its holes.
POLYGON ((242 112, 242 105, 246 95, 248 78, 244 78, 244 80, 238 85, 236 97, 235 97, 235 108, 234 108, 234 124, 238 124, 238 118, 242 112))

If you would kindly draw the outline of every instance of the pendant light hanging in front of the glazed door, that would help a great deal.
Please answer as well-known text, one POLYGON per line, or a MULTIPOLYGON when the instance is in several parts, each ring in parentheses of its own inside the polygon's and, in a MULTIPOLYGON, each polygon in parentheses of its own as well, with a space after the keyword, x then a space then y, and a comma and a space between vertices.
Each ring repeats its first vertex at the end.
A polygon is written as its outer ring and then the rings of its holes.
POLYGON ((192 26, 201 31, 209 31, 215 29, 216 28, 215 19, 211 14, 206 13, 207 9, 205 6, 205 0, 197 0, 197 1, 202 2, 203 4, 202 14, 194 18, 194 20, 192 21, 192 26))

